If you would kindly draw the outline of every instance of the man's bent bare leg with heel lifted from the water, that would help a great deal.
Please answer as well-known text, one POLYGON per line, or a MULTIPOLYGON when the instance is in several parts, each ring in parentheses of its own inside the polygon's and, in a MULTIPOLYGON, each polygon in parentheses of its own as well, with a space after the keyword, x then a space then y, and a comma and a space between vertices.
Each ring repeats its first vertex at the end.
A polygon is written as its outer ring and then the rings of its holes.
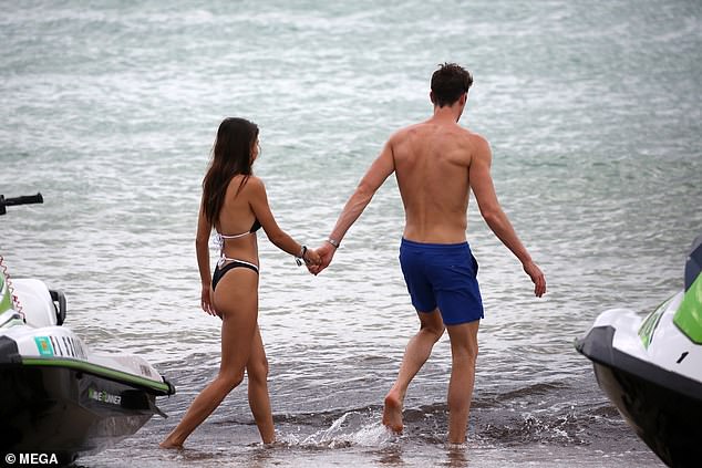
POLYGON ((434 343, 444 333, 444 322, 438 309, 427 313, 417 312, 417 315, 420 331, 407 343, 398 379, 388 392, 383 407, 383 424, 395 433, 402 433, 402 405, 407 386, 432 354, 434 343))

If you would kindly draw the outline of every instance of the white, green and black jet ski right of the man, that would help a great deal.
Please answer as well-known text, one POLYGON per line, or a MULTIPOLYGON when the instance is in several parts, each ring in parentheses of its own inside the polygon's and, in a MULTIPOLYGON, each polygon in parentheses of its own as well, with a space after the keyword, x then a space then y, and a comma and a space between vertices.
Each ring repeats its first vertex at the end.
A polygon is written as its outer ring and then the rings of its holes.
POLYGON ((647 316, 601 313, 576 349, 600 388, 670 467, 702 466, 702 236, 692 243, 684 288, 647 316))

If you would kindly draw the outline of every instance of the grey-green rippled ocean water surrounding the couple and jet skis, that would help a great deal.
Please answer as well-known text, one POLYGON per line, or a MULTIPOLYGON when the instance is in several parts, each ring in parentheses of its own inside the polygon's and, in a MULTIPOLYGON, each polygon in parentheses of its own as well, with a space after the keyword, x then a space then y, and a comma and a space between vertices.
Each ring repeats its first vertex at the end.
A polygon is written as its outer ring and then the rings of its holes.
MULTIPOLYGON (((22 1, 0 18, 0 219, 13 277, 65 292, 66 326, 140 354, 177 387, 99 467, 655 467, 574 350, 606 309, 642 314, 682 285, 702 232, 698 0, 22 1), (500 202, 545 271, 536 299, 474 204, 486 315, 466 448, 444 445, 444 337, 382 401, 417 329, 399 269, 394 180, 319 277, 259 233, 259 324, 280 444, 259 444, 246 385, 186 443, 157 443, 219 363, 194 236, 219 122, 261 128, 256 171, 278 222, 316 246, 395 129, 431 115, 429 81, 475 77, 462 124, 494 153, 500 202)), ((213 256, 215 252, 213 251, 213 256)))

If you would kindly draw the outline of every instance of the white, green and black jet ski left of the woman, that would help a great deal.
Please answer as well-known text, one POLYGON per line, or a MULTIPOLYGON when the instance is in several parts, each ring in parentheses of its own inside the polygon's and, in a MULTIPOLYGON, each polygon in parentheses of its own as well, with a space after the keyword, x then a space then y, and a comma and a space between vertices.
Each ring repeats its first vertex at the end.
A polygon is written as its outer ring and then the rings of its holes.
MULTIPOLYGON (((42 201, 0 195, 0 215, 42 201)), ((61 291, 0 271, 0 455, 18 462, 42 454, 65 465, 114 446, 154 414, 165 417, 156 397, 175 393, 143 357, 91 350, 64 326, 65 314, 61 291)))

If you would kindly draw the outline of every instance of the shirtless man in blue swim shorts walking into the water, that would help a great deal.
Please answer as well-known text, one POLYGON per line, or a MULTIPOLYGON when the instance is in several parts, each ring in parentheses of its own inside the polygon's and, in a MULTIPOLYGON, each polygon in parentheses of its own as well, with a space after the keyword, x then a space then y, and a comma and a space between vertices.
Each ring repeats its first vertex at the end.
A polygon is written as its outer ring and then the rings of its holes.
POLYGON ((405 210, 400 263, 420 318, 420 331, 410 340, 398 379, 385 396, 383 424, 396 433, 402 431, 402 405, 407 386, 446 329, 452 353, 448 384, 448 443, 452 444, 465 441, 477 331, 483 318, 477 262, 466 241, 471 189, 487 226, 531 278, 535 294, 540 298, 546 292, 544 273, 497 201, 489 171, 488 143, 458 125, 472 84, 471 74, 453 63, 441 65, 434 72, 430 94, 434 115, 390 137, 347 201, 329 240, 318 250, 321 266, 310 268, 318 274, 329 266, 348 229, 394 171, 405 210))

